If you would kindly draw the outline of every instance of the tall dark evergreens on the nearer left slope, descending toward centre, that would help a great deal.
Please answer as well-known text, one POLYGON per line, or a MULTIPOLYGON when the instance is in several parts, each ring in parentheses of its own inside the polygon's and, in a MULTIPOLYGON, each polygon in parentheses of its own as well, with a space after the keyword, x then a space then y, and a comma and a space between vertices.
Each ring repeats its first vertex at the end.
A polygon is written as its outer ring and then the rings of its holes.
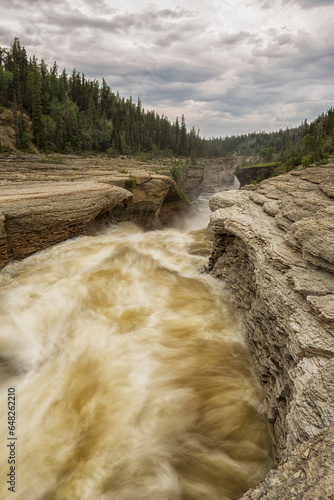
POLYGON ((104 78, 102 83, 87 79, 76 69, 59 73, 56 62, 48 67, 43 59, 28 59, 18 38, 9 49, 0 49, 0 99, 15 110, 19 149, 29 143, 28 115, 41 150, 198 155, 199 133, 187 131, 183 115, 171 123, 164 115, 145 112, 140 98, 134 103, 114 93, 104 78))

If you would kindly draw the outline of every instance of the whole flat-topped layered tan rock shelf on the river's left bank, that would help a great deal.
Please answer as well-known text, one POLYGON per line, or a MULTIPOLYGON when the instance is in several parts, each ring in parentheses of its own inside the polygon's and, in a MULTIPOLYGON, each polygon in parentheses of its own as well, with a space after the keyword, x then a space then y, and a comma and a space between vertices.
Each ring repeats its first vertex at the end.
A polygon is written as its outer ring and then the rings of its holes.
POLYGON ((131 220, 153 229, 191 210, 165 175, 108 159, 56 160, 2 159, 0 268, 106 223, 131 220))

